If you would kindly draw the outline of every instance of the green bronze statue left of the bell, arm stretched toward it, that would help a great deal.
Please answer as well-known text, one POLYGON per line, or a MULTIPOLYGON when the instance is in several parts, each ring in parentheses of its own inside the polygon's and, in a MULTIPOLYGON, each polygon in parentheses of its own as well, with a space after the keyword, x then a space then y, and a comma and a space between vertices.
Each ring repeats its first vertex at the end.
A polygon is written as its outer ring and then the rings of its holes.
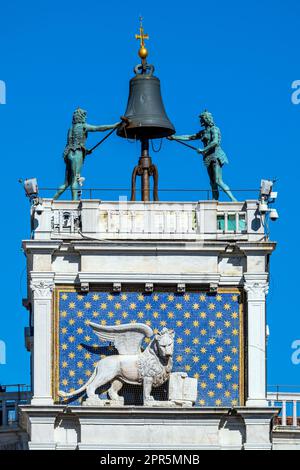
POLYGON ((64 150, 64 161, 66 164, 65 182, 61 185, 53 199, 58 199, 70 186, 72 199, 78 199, 78 191, 81 183, 81 169, 86 155, 91 151, 85 147, 89 132, 103 132, 118 127, 121 122, 112 125, 92 126, 86 122, 86 111, 76 109, 73 114, 72 127, 68 131, 67 145, 64 150))

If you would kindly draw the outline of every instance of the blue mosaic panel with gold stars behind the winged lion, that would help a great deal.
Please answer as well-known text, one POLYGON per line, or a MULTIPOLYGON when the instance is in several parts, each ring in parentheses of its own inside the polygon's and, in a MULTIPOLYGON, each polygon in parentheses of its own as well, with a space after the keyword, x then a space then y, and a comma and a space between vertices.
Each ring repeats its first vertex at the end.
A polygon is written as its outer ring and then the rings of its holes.
MULTIPOLYGON (((242 404, 238 294, 59 291, 57 295, 56 393, 58 388, 77 390, 99 359, 117 353, 113 345, 97 338, 89 321, 102 325, 139 322, 151 326, 154 333, 163 327, 175 330, 173 371, 198 379, 196 406, 242 404)), ((80 397, 68 403, 80 404, 80 397)))

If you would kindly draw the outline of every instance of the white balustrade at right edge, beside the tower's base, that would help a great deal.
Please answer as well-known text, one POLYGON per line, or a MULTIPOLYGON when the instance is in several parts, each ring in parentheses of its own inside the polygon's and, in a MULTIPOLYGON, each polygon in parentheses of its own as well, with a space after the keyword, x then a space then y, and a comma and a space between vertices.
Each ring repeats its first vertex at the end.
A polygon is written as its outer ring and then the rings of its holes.
POLYGON ((270 385, 268 388, 269 405, 281 407, 276 424, 300 427, 300 385, 270 385))

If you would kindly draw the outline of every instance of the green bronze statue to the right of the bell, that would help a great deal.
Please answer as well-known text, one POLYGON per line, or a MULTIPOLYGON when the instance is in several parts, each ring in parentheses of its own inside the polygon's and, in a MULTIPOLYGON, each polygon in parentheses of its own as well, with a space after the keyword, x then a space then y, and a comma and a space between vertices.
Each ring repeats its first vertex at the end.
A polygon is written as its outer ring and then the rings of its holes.
POLYGON ((228 163, 228 158, 220 146, 220 129, 214 124, 213 116, 208 111, 201 113, 199 118, 200 124, 204 129, 197 132, 197 134, 171 136, 168 139, 178 141, 201 140, 204 148, 197 149, 197 152, 203 155, 203 162, 210 179, 213 199, 219 200, 220 187, 229 196, 231 201, 236 201, 229 186, 224 183, 222 178, 222 167, 225 163, 228 163))

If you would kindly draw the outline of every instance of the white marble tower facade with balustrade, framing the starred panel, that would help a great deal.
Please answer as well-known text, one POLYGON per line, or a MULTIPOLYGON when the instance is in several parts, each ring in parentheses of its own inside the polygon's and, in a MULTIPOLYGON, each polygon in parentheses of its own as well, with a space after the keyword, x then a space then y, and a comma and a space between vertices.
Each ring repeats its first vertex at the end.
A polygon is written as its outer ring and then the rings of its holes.
POLYGON ((269 256, 255 200, 236 203, 53 201, 32 209, 23 242, 32 310, 33 399, 22 408, 32 449, 269 449, 278 410, 266 400, 269 256), (53 404, 53 291, 58 286, 168 285, 245 297, 245 406, 115 410, 53 404), (103 427, 106 431, 103 432, 103 427))

